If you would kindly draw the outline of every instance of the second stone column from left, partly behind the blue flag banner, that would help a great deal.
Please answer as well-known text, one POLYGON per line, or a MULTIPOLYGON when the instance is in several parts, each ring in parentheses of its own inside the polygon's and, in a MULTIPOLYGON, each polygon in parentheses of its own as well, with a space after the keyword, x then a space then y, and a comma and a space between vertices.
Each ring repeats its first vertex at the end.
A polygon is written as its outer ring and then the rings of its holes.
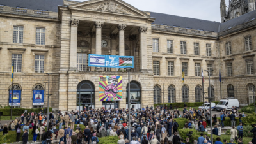
MULTIPOLYGON (((96 28, 96 52, 95 54, 101 55, 101 34, 102 34, 102 27, 104 25, 104 22, 95 22, 95 28, 96 28)), ((102 71, 102 68, 96 67, 96 71, 102 71)))

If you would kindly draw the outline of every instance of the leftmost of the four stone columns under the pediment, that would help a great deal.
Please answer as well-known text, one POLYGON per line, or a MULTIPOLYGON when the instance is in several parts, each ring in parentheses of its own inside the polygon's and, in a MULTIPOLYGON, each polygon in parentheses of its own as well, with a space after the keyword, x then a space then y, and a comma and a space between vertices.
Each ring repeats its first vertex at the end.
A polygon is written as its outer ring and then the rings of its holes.
POLYGON ((75 71, 76 68, 76 57, 77 57, 77 27, 79 24, 79 20, 70 18, 70 65, 69 70, 75 71))

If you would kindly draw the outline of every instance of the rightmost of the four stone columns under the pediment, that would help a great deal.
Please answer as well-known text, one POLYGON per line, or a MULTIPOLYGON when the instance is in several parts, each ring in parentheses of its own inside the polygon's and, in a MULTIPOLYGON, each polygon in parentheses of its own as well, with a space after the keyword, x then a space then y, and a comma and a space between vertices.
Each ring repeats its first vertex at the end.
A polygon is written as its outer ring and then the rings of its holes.
POLYGON ((147 29, 148 27, 139 27, 140 32, 140 71, 147 73, 147 29))

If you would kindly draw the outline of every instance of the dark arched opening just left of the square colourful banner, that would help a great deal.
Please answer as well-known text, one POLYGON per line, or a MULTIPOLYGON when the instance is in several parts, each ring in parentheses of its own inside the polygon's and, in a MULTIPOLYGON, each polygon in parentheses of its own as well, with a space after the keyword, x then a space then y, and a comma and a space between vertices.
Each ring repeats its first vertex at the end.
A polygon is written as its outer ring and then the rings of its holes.
POLYGON ((92 82, 84 80, 77 85, 78 110, 95 108, 95 87, 92 82))

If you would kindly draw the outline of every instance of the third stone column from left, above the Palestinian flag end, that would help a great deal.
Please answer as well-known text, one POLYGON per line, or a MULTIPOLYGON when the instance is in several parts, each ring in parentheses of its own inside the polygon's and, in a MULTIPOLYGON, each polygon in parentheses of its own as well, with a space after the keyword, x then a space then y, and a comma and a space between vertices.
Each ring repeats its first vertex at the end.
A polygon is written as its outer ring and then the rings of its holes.
MULTIPOLYGON (((124 46, 124 31, 126 28, 126 24, 119 24, 119 55, 125 56, 125 46, 124 46)), ((124 68, 120 68, 119 71, 124 71, 124 68)))

